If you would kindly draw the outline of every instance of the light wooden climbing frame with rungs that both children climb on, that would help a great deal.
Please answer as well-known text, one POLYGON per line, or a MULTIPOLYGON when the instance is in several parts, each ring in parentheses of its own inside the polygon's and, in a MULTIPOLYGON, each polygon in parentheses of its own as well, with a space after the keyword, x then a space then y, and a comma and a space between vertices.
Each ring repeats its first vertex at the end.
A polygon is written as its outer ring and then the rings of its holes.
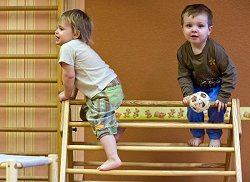
MULTIPOLYGON (((119 127, 126 128, 217 128, 228 130, 227 143, 221 147, 208 147, 207 144, 202 144, 199 147, 190 147, 185 143, 118 143, 118 151, 147 151, 147 152, 219 152, 226 153, 224 163, 152 163, 152 162, 123 162, 122 169, 110 171, 99 171, 93 169, 93 166, 98 166, 101 163, 97 161, 73 161, 73 151, 78 150, 102 150, 102 146, 94 142, 75 142, 72 141, 72 128, 74 127, 89 127, 88 122, 72 121, 71 106, 82 105, 84 100, 64 101, 62 104, 62 153, 60 167, 60 182, 73 182, 74 174, 83 175, 114 175, 114 176, 224 176, 224 182, 229 181, 229 177, 233 176, 236 182, 242 182, 241 171, 241 155, 240 155, 240 135, 241 135, 241 119, 240 119, 240 104, 238 99, 232 99, 228 107, 230 110, 229 120, 220 124, 194 124, 187 122, 172 122, 166 120, 138 120, 131 118, 122 119, 119 122, 119 127), (232 162, 234 161, 234 162, 232 162), (234 165, 232 165, 232 163, 234 165), (76 168, 84 166, 84 168, 76 168), (92 166, 92 168, 88 168, 92 166), (136 169, 123 169, 123 167, 136 167, 136 169), (145 170, 145 167, 150 170, 145 170), (160 167, 161 170, 156 170, 160 167), (142 169, 138 169, 142 168, 142 169), (171 170, 166 170, 166 169, 171 170), (204 170, 208 168, 209 170, 204 170), (220 168, 220 170, 214 170, 220 168), (152 169, 152 170, 151 170, 152 169)), ((180 101, 124 101, 121 107, 184 107, 180 101)), ((173 136, 174 137, 174 136, 173 136)))

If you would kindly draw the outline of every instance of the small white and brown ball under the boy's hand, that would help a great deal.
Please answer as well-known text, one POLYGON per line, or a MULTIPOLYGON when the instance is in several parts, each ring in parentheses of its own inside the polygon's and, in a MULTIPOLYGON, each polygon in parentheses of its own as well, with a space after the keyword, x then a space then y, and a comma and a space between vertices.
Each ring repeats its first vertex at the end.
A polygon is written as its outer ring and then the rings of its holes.
POLYGON ((207 110, 210 106, 210 97, 205 92, 196 92, 189 99, 189 106, 197 113, 207 110))

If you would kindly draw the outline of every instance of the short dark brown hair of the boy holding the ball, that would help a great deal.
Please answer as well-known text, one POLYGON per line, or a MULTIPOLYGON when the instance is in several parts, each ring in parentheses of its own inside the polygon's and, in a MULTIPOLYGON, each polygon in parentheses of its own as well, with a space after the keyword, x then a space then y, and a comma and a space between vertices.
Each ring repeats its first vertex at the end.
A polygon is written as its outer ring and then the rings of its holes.
POLYGON ((204 4, 191 4, 186 6, 181 13, 181 25, 183 26, 183 16, 187 14, 188 16, 196 16, 198 14, 205 13, 207 15, 208 26, 213 24, 213 13, 212 11, 204 4))

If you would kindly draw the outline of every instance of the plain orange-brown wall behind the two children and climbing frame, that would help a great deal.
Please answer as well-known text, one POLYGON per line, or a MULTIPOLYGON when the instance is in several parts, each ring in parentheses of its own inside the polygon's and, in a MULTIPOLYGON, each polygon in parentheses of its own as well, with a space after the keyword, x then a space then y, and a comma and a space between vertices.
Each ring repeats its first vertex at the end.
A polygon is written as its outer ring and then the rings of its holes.
MULTIPOLYGON (((118 73, 124 87, 126 99, 181 100, 181 92, 176 80, 176 51, 185 41, 181 32, 180 13, 190 3, 205 3, 214 13, 214 28, 211 37, 221 43, 230 54, 238 70, 237 89, 233 97, 242 106, 250 106, 248 78, 250 77, 250 2, 245 0, 86 0, 85 9, 92 17, 95 29, 93 47, 118 73)), ((244 121, 241 138, 243 181, 250 180, 247 174, 250 160, 248 145, 249 121, 244 121)), ((226 135, 226 134, 225 134, 226 135)), ((125 133, 124 141, 148 141, 150 138, 161 142, 186 141, 187 130, 131 130, 125 133), (153 133, 153 134, 152 134, 153 133)), ((89 133, 87 138, 92 138, 89 133)), ((94 140, 94 138, 92 138, 94 140)), ((91 158, 95 153, 87 154, 91 158)), ((104 154, 103 154, 104 155, 104 154)), ((121 153, 124 160, 131 160, 130 153, 121 153)), ((138 154, 149 160, 171 161, 214 158, 213 154, 182 155, 165 153, 150 156, 138 154)), ((96 157, 96 155, 95 155, 96 157)), ((103 158, 102 158, 103 159, 103 158)), ((136 159, 135 159, 136 160, 136 159)), ((125 178, 127 179, 127 178, 125 178)), ((151 181, 222 181, 215 177, 139 178, 151 181)))

